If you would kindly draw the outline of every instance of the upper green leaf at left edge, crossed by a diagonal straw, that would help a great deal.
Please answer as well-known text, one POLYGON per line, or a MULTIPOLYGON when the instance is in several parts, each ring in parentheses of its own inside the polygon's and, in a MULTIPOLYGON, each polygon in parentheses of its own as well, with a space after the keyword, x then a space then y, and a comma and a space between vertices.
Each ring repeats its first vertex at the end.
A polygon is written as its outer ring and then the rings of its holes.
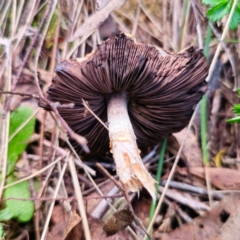
MULTIPOLYGON (((30 107, 20 107, 16 109, 10 118, 9 136, 11 136, 26 120, 33 114, 30 107)), ((27 140, 32 136, 35 119, 32 118, 9 142, 8 144, 8 174, 10 174, 18 157, 27 146, 27 140)))

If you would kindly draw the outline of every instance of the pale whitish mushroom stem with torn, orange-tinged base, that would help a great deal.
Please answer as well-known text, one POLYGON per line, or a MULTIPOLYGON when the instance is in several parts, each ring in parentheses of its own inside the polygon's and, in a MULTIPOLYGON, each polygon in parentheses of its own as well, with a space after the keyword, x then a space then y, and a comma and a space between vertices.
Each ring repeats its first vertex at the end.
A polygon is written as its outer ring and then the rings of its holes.
POLYGON ((117 174, 126 190, 136 192, 145 187, 156 198, 155 180, 148 173, 138 149, 136 136, 128 116, 125 93, 113 95, 108 102, 110 149, 117 174))

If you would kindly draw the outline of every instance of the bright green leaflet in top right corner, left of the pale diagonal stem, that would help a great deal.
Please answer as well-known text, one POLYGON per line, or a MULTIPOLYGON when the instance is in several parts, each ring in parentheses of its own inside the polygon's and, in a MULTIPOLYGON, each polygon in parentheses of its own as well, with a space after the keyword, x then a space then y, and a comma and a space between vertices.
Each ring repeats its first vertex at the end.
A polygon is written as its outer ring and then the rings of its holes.
POLYGON ((220 4, 211 7, 207 11, 207 16, 212 22, 216 22, 223 18, 224 15, 229 14, 232 3, 229 1, 221 2, 220 4))

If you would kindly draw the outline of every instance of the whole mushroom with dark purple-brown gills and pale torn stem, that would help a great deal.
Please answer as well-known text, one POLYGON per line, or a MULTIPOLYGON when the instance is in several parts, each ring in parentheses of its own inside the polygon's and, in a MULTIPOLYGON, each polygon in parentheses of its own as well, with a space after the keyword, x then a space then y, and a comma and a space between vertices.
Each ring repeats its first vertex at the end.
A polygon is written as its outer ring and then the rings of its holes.
MULTIPOLYGON (((47 98, 74 108, 59 108, 68 125, 88 140, 91 154, 109 149, 128 191, 145 187, 155 198, 155 180, 140 157, 143 146, 159 142, 189 122, 206 91, 208 68, 202 50, 172 54, 121 33, 77 60, 63 60, 47 98), (83 105, 103 121, 108 131, 83 105)), ((73 142, 79 154, 81 146, 73 142)))

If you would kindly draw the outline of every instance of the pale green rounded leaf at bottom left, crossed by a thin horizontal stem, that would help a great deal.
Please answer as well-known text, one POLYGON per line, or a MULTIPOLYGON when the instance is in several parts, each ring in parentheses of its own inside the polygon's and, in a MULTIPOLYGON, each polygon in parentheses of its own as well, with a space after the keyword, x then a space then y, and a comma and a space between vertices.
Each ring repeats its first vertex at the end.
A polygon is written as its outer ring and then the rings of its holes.
MULTIPOLYGON (((7 183, 12 183, 16 179, 11 178, 7 183)), ((21 182, 17 185, 7 188, 3 193, 4 198, 30 198, 29 182, 21 182)), ((17 218, 19 222, 28 222, 34 213, 33 201, 13 200, 5 201, 5 208, 0 211, 0 221, 6 221, 17 218)))

